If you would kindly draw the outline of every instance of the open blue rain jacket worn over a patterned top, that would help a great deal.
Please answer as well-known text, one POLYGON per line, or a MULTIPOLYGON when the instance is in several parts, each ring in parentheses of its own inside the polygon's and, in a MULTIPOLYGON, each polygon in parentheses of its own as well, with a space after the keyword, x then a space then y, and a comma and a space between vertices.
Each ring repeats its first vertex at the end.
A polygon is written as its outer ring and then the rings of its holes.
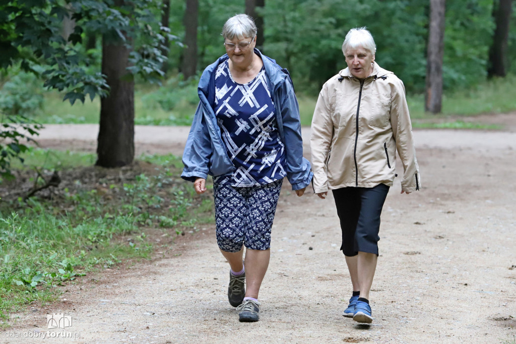
MULTIPOLYGON (((267 81, 272 88, 278 129, 285 145, 288 181, 292 184, 292 190, 302 189, 310 184, 313 174, 310 162, 303 158, 299 105, 292 80, 288 71, 281 69, 275 60, 262 55, 257 49, 254 52, 262 58, 267 81)), ((228 58, 227 54, 219 57, 201 75, 198 86, 200 102, 183 152, 185 167, 181 178, 185 180, 193 182, 196 178, 206 179, 208 175, 230 175, 235 170, 222 141, 212 106, 215 103, 215 70, 228 58)))

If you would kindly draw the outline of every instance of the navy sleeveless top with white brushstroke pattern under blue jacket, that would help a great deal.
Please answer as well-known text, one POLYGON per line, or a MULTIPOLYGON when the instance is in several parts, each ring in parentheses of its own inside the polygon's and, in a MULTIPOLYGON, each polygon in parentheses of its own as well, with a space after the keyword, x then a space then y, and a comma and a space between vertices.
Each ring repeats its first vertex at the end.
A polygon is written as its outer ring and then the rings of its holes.
POLYGON ((242 85, 231 77, 228 61, 222 62, 215 73, 214 112, 236 170, 214 181, 254 186, 282 179, 286 175, 285 147, 278 133, 265 69, 262 67, 252 81, 242 85))

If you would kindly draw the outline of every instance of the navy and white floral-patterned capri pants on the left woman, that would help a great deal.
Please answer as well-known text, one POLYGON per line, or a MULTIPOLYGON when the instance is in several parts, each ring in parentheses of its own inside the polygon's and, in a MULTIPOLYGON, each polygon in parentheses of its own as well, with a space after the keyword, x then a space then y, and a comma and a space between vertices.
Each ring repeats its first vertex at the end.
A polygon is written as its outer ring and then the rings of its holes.
POLYGON ((270 248, 270 229, 283 179, 266 185, 236 187, 214 183, 217 244, 222 251, 270 248))

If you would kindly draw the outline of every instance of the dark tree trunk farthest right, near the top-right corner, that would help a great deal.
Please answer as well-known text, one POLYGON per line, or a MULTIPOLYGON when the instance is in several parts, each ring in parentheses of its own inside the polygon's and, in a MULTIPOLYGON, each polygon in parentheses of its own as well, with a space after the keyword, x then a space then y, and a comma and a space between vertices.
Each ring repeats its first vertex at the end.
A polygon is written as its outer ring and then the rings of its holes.
POLYGON ((507 42, 509 40, 509 24, 512 9, 512 0, 495 1, 493 5, 493 19, 496 24, 493 44, 489 50, 488 76, 507 75, 507 42), (498 6, 496 6, 498 3, 498 6))

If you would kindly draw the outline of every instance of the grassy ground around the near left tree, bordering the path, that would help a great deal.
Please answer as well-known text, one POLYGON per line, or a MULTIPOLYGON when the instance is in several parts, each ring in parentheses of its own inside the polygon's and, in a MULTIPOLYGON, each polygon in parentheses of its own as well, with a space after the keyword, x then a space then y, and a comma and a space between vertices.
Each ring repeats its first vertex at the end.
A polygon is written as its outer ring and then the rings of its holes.
POLYGON ((93 168, 89 153, 31 148, 24 158, 25 166, 13 166, 20 179, 30 185, 31 169, 57 169, 63 184, 52 197, 24 202, 20 181, 0 181, 0 327, 31 302, 55 300, 60 285, 82 274, 148 259, 156 238, 213 222, 213 200, 178 177, 174 155, 143 155, 130 170, 93 168))

